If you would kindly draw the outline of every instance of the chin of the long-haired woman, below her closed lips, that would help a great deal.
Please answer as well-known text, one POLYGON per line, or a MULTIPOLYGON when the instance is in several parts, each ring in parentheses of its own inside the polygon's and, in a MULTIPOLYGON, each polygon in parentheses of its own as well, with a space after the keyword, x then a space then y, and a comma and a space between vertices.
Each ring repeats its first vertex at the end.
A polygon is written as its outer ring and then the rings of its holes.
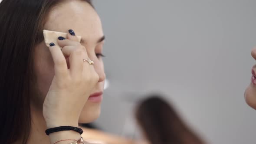
POLYGON ((100 112, 100 103, 90 103, 87 101, 79 117, 79 123, 85 124, 95 121, 99 117, 100 112))

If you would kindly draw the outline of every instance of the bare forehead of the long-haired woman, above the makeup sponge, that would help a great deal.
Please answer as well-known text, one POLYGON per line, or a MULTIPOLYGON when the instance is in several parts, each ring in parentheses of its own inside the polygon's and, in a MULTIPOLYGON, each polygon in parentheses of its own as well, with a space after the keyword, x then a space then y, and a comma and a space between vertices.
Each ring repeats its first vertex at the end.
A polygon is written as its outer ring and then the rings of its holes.
POLYGON ((96 41, 103 36, 102 24, 92 6, 83 0, 67 0, 49 12, 44 29, 67 33, 73 29, 77 36, 96 41))

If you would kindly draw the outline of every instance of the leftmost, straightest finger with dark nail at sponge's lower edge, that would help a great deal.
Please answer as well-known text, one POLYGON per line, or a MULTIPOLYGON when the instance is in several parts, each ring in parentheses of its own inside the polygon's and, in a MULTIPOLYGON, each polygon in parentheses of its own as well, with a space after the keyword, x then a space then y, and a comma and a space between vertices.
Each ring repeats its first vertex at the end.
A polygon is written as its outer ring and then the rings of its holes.
POLYGON ((66 76, 68 74, 68 67, 61 50, 54 43, 50 43, 49 50, 53 57, 55 75, 57 77, 66 76))

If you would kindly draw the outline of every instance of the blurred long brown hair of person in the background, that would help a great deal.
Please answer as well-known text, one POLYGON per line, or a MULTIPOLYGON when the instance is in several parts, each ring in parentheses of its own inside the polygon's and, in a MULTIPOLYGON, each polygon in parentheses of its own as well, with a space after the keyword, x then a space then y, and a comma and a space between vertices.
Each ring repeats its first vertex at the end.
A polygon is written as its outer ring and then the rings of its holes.
POLYGON ((149 95, 140 101, 135 116, 151 144, 203 144, 159 95, 149 95))

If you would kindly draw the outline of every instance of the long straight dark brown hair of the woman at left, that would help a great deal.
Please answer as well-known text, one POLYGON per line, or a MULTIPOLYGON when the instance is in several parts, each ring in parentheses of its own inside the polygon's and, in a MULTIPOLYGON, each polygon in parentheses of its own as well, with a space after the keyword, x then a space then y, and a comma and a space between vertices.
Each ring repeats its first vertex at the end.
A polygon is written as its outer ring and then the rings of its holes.
MULTIPOLYGON (((43 40, 50 9, 62 0, 0 2, 0 143, 30 135, 34 47, 43 40)), ((90 0, 85 0, 91 4, 90 0)), ((92 5, 92 4, 91 4, 92 5)))

